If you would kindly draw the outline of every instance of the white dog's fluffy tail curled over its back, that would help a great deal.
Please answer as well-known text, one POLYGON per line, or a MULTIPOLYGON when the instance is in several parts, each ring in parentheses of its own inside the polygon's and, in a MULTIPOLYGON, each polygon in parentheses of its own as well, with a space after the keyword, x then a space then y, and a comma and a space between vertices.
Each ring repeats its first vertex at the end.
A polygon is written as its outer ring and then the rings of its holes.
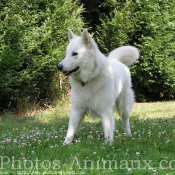
POLYGON ((109 58, 116 59, 126 66, 131 66, 139 59, 139 50, 133 46, 122 46, 111 51, 109 58))

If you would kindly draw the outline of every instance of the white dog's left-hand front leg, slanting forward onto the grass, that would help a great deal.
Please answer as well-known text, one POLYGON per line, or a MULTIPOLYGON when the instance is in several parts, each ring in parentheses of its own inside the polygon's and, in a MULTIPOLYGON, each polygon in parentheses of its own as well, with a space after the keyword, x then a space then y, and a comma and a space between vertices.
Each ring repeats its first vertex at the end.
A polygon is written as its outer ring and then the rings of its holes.
POLYGON ((74 135, 78 132, 81 127, 82 121, 84 119, 84 110, 80 109, 71 109, 70 117, 69 117, 69 127, 67 130, 67 135, 63 145, 71 144, 74 138, 74 135))

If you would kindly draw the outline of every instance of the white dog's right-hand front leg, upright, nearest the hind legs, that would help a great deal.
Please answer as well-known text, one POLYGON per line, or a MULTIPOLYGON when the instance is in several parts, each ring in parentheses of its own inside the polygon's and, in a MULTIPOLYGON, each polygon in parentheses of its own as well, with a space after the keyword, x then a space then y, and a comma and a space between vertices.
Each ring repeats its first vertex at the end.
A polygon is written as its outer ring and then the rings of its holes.
POLYGON ((113 109, 107 109, 100 115, 103 124, 104 136, 107 142, 113 143, 115 119, 113 109))

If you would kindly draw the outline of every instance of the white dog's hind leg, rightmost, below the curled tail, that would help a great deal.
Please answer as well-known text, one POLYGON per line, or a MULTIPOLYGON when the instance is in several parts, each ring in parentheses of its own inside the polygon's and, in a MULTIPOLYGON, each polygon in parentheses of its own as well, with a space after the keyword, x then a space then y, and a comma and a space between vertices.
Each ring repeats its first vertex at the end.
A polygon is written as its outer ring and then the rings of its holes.
POLYGON ((127 136, 131 135, 129 117, 134 104, 134 93, 129 87, 125 87, 117 99, 116 105, 119 115, 122 117, 124 130, 127 136))

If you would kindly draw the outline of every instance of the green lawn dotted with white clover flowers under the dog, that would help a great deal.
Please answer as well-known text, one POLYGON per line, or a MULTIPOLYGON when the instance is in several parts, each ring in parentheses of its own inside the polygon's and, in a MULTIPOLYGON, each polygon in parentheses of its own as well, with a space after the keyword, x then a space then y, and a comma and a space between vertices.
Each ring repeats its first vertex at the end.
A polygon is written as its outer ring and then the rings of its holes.
POLYGON ((132 138, 116 114, 114 144, 99 119, 86 117, 72 145, 62 146, 70 103, 25 117, 0 117, 0 174, 175 174, 175 102, 136 103, 132 138))

